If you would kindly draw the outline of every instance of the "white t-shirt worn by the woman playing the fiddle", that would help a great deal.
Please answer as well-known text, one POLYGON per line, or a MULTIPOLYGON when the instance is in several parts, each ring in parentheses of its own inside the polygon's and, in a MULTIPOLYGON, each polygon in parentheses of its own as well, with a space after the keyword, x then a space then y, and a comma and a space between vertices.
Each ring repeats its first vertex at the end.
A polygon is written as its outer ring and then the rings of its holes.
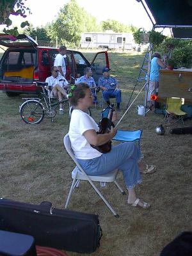
POLYGON ((92 148, 84 138, 83 132, 88 130, 99 131, 99 127, 87 113, 74 109, 70 119, 68 136, 77 159, 93 159, 102 155, 95 148, 92 148))

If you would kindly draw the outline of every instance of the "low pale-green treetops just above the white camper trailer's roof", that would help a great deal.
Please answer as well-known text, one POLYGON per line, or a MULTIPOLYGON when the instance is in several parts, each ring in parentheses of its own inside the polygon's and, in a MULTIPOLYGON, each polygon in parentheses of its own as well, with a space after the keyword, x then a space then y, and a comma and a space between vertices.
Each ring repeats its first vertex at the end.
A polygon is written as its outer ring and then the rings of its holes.
POLYGON ((116 33, 132 33, 134 30, 136 30, 136 27, 132 25, 127 26, 121 22, 118 22, 117 20, 110 19, 102 21, 101 27, 103 31, 113 30, 116 33))

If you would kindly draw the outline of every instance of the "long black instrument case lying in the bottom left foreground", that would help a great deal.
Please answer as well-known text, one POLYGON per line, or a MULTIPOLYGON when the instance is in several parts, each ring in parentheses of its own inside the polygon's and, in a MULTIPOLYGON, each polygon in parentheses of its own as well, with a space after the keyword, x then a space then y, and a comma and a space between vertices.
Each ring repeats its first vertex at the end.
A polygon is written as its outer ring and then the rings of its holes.
POLYGON ((35 237, 35 244, 79 253, 99 246, 98 216, 52 208, 51 202, 25 204, 1 198, 0 229, 35 237))

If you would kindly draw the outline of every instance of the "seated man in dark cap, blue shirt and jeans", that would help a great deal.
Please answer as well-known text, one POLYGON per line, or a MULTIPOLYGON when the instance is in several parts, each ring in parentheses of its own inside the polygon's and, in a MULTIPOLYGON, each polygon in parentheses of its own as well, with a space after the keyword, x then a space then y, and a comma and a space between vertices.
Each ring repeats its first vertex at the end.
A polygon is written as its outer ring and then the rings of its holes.
POLYGON ((121 91, 118 88, 115 77, 109 76, 109 68, 103 68, 102 77, 99 77, 98 86, 102 89, 102 95, 109 105, 109 98, 116 98, 116 111, 120 111, 120 102, 122 102, 121 91))

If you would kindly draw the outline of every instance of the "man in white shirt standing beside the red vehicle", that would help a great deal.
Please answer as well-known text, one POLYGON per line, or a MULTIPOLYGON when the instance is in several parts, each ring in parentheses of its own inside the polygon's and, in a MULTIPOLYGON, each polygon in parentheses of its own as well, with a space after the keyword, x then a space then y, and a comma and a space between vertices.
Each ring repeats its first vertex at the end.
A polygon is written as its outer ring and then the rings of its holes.
POLYGON ((54 59, 54 67, 57 67, 58 70, 60 71, 61 76, 66 75, 66 65, 65 65, 65 57, 67 54, 67 47, 65 46, 60 46, 60 53, 56 56, 54 59))

